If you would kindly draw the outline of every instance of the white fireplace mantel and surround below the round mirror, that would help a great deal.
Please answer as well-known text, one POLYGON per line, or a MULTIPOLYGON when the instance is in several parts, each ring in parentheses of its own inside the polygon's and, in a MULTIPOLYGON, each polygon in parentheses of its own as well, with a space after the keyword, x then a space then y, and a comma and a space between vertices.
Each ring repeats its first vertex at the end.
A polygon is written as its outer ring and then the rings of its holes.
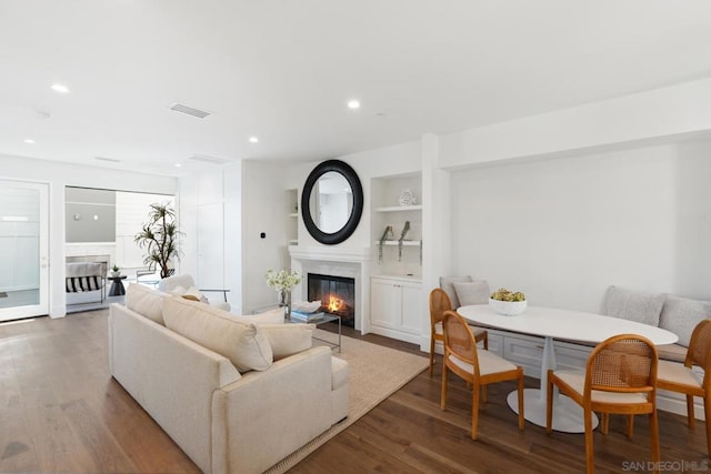
MULTIPOLYGON (((290 245, 291 269, 306 275, 308 272, 349 276, 356 280, 356 329, 367 334, 370 330, 370 259, 369 248, 290 245)), ((296 297, 306 299, 303 280, 294 289, 296 297)), ((292 295, 293 297, 293 295, 292 295)))

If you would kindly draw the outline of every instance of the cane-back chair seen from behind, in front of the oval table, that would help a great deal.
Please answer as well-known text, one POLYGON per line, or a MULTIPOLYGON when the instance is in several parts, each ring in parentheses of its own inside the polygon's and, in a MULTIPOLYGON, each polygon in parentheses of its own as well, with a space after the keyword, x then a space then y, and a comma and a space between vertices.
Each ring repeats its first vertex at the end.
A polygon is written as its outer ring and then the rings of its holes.
POLYGON ((608 415, 628 415, 627 435, 632 436, 634 415, 649 414, 651 454, 659 465, 659 425, 657 420, 657 349, 647 337, 621 334, 595 346, 585 371, 548 371, 545 431, 553 421, 553 386, 583 409, 585 461, 594 472, 592 412, 603 414, 601 431, 608 432, 608 415))

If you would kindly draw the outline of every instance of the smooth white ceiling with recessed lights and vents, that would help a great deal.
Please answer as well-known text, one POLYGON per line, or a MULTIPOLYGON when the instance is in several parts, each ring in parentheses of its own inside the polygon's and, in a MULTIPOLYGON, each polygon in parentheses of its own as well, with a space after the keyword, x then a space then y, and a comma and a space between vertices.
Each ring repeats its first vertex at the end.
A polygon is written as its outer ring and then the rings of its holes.
POLYGON ((709 77, 710 46, 707 0, 2 0, 0 154, 322 160, 709 77))

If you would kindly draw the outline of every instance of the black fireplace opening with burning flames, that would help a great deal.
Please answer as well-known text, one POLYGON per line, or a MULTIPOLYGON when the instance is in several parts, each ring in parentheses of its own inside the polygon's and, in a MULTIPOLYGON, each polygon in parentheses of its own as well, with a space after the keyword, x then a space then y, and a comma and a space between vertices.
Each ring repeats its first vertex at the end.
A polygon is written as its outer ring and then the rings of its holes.
POLYGON ((356 279, 309 273, 307 278, 309 301, 321 301, 326 313, 341 317, 341 324, 356 326, 356 279))

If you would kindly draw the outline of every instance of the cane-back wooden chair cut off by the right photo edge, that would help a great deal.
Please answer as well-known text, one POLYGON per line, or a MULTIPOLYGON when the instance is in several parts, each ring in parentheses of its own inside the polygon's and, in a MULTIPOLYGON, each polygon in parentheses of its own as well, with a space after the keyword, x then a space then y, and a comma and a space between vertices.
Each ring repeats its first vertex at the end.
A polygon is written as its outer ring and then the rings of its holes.
POLYGON ((711 320, 703 320, 693 329, 684 364, 659 361, 657 387, 687 395, 687 420, 694 428, 693 397, 703 399, 703 413, 707 420, 707 456, 711 457, 711 320), (703 370, 703 376, 692 367, 703 370))

